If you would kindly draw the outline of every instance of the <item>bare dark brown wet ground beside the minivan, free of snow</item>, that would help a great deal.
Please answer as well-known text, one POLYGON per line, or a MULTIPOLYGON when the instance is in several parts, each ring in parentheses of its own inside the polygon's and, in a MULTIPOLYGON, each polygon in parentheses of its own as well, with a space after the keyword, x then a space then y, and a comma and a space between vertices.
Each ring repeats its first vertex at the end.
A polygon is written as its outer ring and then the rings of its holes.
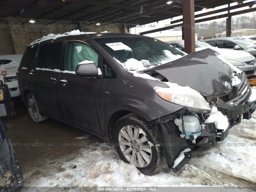
POLYGON ((28 110, 22 101, 15 105, 16 116, 6 120, 6 134, 11 139, 26 183, 39 175, 50 166, 56 158, 66 154, 76 154, 83 148, 83 143, 103 142, 100 138, 82 130, 49 119, 35 123, 30 118, 28 110), (86 139, 83 137, 86 135, 86 139), (77 139, 83 137, 83 139, 77 139))

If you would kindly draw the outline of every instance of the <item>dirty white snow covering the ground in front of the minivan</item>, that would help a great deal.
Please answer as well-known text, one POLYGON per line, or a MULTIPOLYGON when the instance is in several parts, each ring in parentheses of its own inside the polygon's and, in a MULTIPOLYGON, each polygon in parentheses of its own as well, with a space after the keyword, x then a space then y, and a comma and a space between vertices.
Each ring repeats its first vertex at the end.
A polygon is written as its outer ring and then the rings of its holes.
MULTIPOLYGON (((41 174, 30 182, 27 178, 33 172, 25 174, 24 186, 255 186, 256 113, 252 117, 234 126, 217 146, 193 152, 190 162, 176 174, 165 165, 153 176, 145 176, 120 160, 114 146, 92 143, 38 168, 41 174)), ((81 138, 85 143, 87 136, 81 138)))

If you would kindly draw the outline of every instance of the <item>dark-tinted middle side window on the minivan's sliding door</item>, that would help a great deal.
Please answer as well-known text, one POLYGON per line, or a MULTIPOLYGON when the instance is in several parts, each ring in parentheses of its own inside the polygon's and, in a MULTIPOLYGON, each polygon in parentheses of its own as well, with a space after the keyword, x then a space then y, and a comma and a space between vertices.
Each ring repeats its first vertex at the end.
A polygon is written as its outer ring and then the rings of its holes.
POLYGON ((37 67, 46 69, 60 69, 60 54, 62 42, 40 46, 37 67))

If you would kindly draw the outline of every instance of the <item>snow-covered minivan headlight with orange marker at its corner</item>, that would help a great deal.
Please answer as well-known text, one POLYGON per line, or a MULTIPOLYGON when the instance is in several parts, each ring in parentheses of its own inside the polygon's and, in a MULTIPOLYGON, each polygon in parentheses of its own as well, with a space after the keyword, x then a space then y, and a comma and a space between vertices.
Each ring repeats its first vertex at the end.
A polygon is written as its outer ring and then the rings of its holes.
POLYGON ((208 102, 196 90, 193 90, 188 86, 178 86, 178 84, 174 83, 169 83, 168 85, 170 88, 154 88, 156 94, 158 94, 162 99, 186 106, 186 108, 191 112, 210 112, 211 108, 208 102))

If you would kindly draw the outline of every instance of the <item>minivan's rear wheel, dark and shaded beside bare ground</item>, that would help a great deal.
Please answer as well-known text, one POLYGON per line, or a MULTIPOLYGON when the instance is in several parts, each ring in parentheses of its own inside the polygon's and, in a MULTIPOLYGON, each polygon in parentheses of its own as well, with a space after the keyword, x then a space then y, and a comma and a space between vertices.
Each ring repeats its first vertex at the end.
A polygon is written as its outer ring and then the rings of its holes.
POLYGON ((27 94, 27 106, 28 106, 28 112, 30 114, 30 117, 34 122, 40 123, 48 119, 48 117, 44 116, 40 112, 38 105, 36 103, 36 99, 31 93, 27 94))

